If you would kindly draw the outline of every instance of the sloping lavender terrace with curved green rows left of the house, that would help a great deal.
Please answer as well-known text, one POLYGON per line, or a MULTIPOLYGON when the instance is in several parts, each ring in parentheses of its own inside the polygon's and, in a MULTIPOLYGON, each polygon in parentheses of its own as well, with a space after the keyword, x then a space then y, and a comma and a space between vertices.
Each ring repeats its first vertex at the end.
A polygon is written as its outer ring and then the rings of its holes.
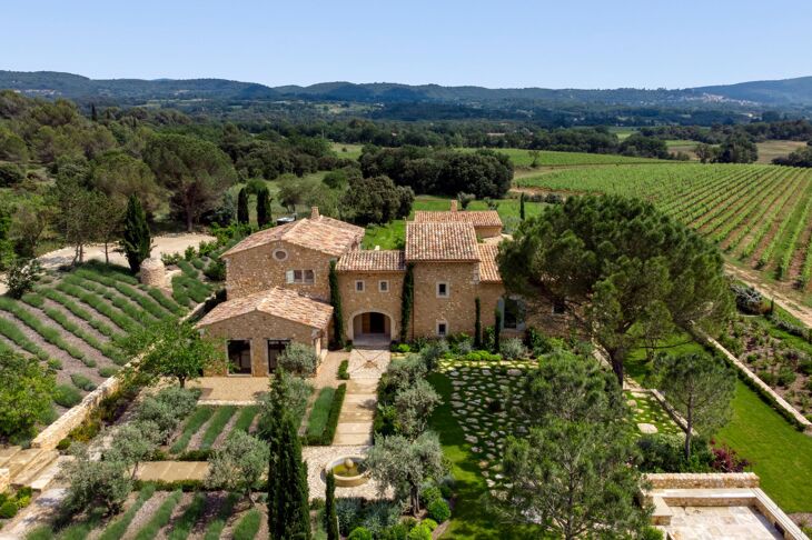
POLYGON ((20 300, 0 296, 0 350, 33 356, 56 371, 60 413, 127 363, 117 340, 206 300, 216 284, 202 270, 214 263, 197 256, 181 261, 171 291, 96 261, 50 274, 20 300))

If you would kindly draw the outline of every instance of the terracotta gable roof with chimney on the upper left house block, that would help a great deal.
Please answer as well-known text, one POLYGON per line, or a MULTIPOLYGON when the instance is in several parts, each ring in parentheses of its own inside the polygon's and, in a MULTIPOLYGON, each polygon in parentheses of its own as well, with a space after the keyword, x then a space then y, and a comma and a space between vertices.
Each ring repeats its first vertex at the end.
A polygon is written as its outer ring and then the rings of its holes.
POLYGON ((324 216, 316 219, 305 218, 255 232, 221 257, 280 240, 337 257, 360 242, 363 238, 362 227, 324 216))

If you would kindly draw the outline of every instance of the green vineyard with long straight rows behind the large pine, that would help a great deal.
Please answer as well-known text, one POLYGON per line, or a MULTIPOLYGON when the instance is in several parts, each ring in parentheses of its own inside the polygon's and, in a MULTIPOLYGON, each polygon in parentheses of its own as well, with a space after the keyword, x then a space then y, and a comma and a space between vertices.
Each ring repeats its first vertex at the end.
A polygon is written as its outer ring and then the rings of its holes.
POLYGON ((812 170, 673 163, 554 171, 524 188, 642 197, 727 256, 806 290, 812 278, 812 170))

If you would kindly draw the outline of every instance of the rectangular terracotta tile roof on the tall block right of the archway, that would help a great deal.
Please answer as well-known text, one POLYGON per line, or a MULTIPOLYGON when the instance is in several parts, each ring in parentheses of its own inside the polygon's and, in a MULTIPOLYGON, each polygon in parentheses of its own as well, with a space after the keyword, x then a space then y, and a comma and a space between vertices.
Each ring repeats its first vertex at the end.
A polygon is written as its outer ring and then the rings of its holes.
POLYGON ((406 223, 407 261, 477 261, 471 223, 406 223))

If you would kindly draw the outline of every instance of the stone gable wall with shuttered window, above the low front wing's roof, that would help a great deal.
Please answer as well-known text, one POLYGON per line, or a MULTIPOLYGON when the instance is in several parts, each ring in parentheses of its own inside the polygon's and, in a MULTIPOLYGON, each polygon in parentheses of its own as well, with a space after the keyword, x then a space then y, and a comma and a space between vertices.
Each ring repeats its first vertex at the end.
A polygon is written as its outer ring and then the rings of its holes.
POLYGON ((274 287, 283 287, 310 298, 329 301, 330 259, 335 257, 286 241, 270 242, 231 253, 225 258, 227 297, 232 300, 274 287), (277 250, 284 250, 287 258, 283 261, 275 259, 274 252, 277 250), (288 283, 285 277, 288 270, 313 270, 314 282, 288 283))

